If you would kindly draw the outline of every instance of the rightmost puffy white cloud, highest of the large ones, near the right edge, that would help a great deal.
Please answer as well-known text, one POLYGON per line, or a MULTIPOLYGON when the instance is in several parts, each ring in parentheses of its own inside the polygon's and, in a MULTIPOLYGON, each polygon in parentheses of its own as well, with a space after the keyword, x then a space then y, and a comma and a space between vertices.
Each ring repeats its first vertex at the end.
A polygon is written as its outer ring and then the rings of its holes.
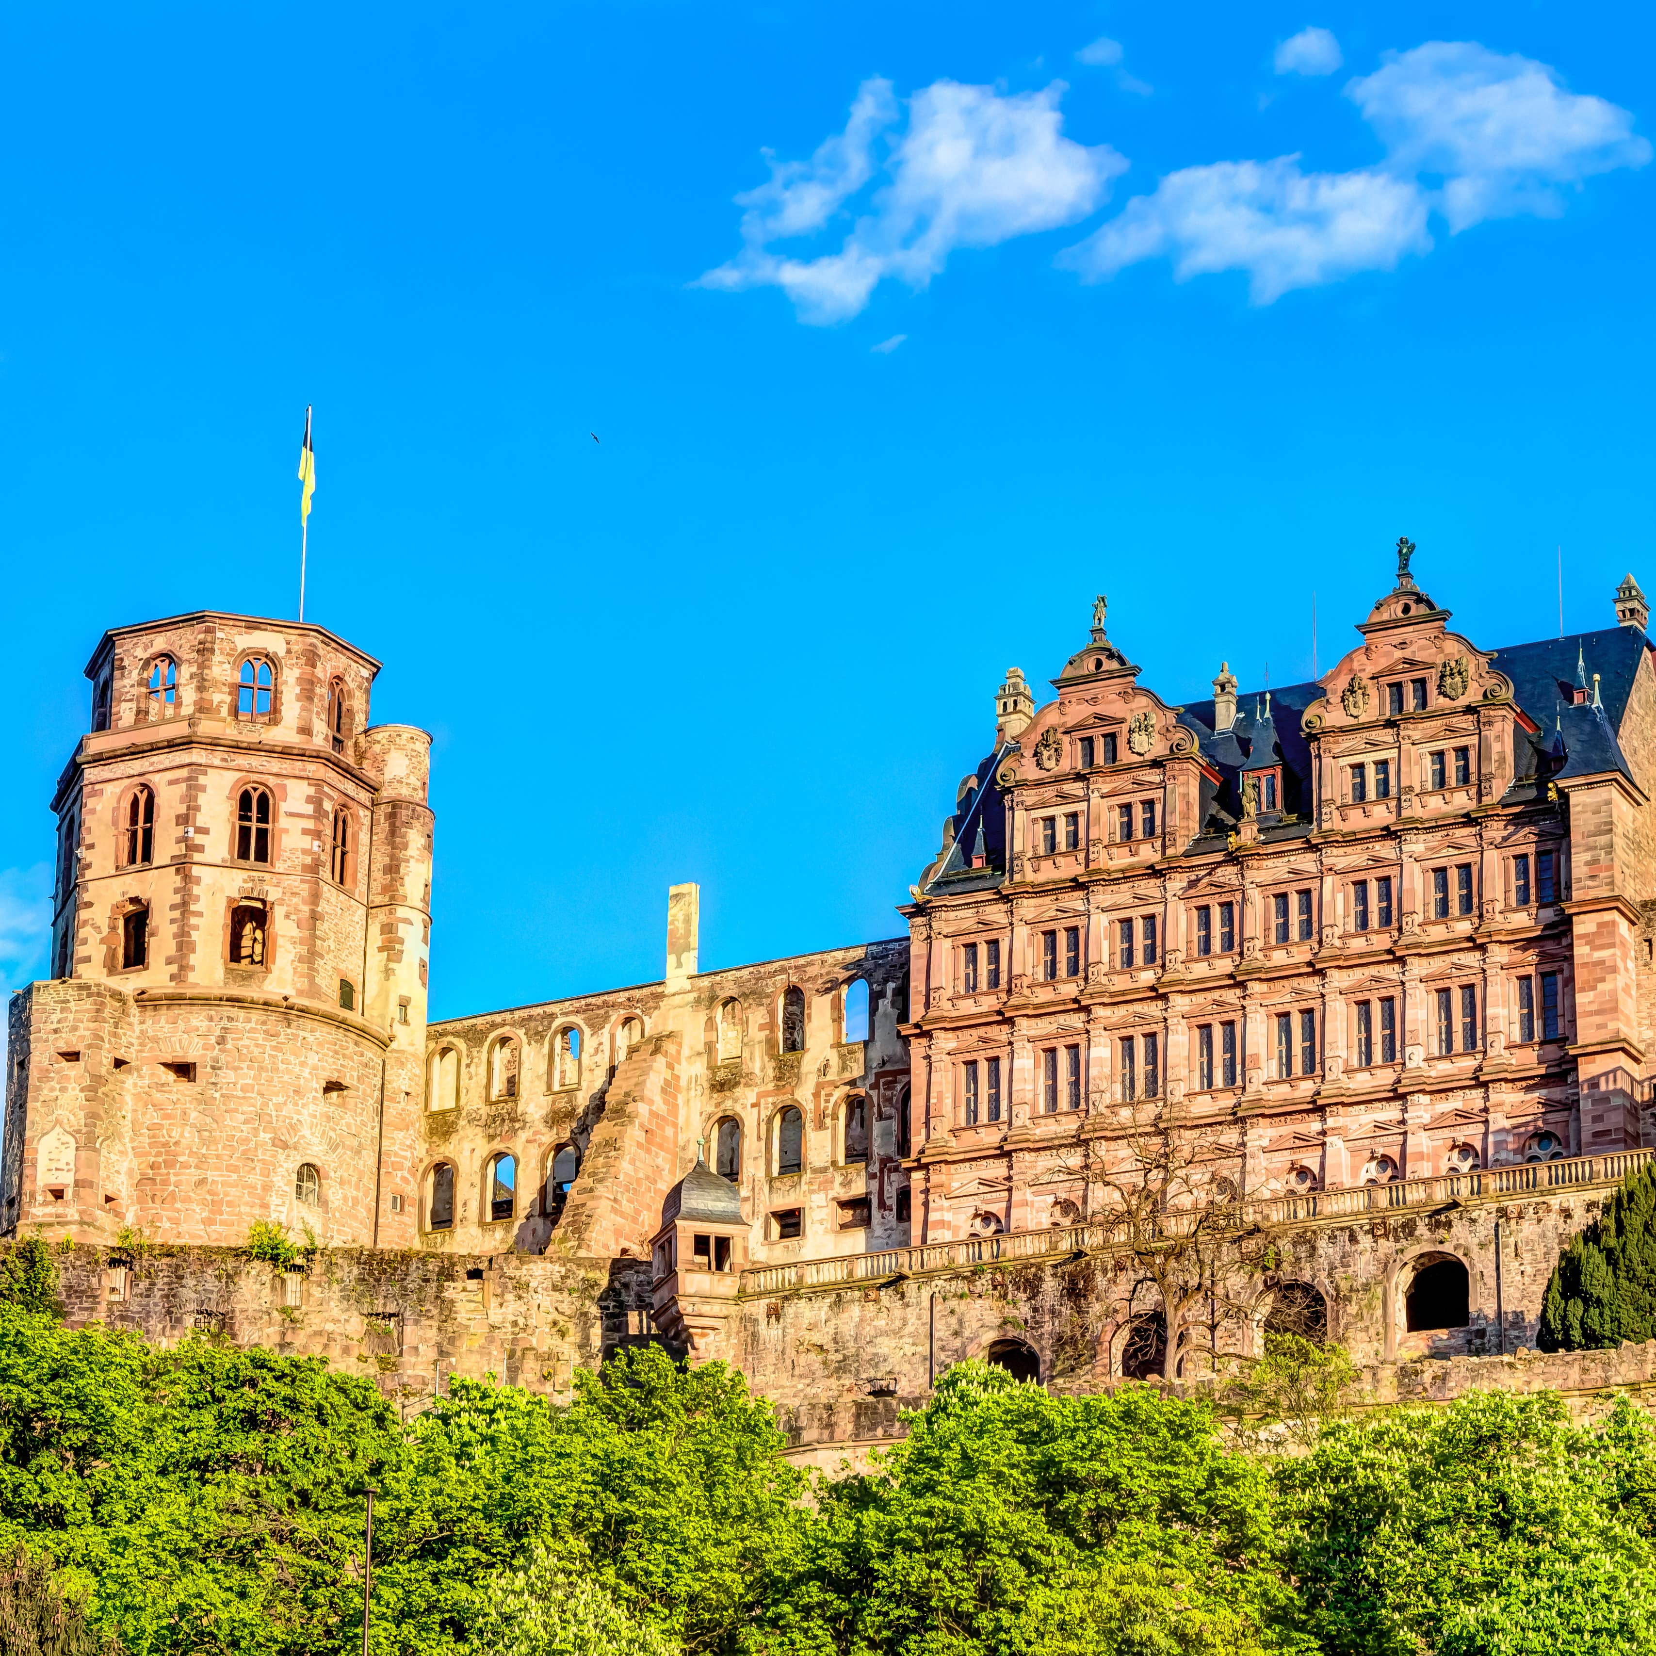
POLYGON ((1626 109, 1565 91, 1545 63, 1469 40, 1388 53, 1346 96, 1384 141, 1394 171, 1442 177, 1452 232, 1522 212, 1555 215, 1560 184, 1651 159, 1626 109))

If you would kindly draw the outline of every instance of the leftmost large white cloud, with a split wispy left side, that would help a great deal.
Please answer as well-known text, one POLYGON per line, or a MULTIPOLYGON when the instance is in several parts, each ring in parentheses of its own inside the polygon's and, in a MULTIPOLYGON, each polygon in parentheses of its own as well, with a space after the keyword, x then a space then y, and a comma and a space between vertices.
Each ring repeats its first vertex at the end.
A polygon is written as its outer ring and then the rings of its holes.
POLYGON ((770 182, 737 197, 747 209, 742 252, 700 285, 780 286, 802 321, 845 321, 886 277, 924 288, 957 247, 995 247, 1085 219, 1126 161, 1108 144, 1086 147, 1063 136, 1063 91, 1061 81, 1015 94, 936 81, 909 99, 907 128, 893 131, 899 111, 889 83, 866 81, 845 132, 808 162, 767 157, 770 182), (823 229, 876 172, 886 184, 838 252, 805 258, 770 247, 823 229))

